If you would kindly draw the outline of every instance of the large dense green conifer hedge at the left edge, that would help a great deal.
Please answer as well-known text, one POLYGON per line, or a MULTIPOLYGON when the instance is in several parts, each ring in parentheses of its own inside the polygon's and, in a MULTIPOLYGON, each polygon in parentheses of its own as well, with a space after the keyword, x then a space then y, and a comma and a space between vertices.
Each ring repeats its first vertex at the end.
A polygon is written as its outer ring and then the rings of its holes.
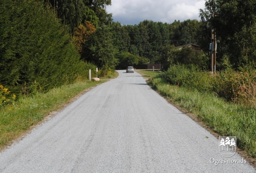
POLYGON ((0 3, 0 83, 15 93, 47 91, 84 73, 77 48, 38 1, 0 3))

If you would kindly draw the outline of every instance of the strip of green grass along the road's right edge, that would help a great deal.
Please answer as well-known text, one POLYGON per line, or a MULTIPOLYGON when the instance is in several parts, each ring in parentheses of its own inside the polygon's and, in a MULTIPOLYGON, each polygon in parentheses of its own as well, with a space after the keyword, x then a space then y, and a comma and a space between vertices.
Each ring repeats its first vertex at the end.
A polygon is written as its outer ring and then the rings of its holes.
POLYGON ((256 161, 256 109, 246 108, 218 98, 214 94, 172 86, 157 75, 161 72, 137 71, 149 78, 148 83, 177 107, 193 113, 219 136, 236 136, 237 145, 256 161))

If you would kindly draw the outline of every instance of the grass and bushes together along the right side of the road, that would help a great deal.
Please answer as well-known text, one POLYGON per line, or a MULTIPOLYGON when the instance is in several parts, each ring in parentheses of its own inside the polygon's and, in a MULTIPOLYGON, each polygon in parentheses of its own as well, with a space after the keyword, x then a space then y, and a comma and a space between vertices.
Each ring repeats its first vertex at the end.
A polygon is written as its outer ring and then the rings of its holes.
POLYGON ((251 97, 256 94, 255 72, 250 77, 243 75, 241 80, 248 81, 248 85, 237 82, 239 78, 236 76, 239 73, 234 71, 211 75, 194 68, 173 66, 166 72, 137 72, 148 78, 148 83, 167 100, 196 115, 215 133, 220 136, 236 136, 238 147, 250 157, 256 158, 255 96, 251 97), (217 81, 223 86, 216 85, 217 81))

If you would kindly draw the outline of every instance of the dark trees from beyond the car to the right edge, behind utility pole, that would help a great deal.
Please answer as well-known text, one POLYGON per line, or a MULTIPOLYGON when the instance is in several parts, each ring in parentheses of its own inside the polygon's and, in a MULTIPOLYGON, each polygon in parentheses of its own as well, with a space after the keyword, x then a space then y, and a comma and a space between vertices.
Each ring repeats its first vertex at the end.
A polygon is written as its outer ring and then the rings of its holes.
POLYGON ((114 43, 119 52, 148 58, 150 63, 194 64, 209 70, 209 43, 214 32, 217 36, 217 70, 255 67, 255 5, 256 2, 251 0, 206 0, 205 9, 199 10, 200 21, 188 19, 167 24, 145 20, 138 25, 113 22, 114 43), (202 52, 175 49, 190 43, 199 45, 202 52))

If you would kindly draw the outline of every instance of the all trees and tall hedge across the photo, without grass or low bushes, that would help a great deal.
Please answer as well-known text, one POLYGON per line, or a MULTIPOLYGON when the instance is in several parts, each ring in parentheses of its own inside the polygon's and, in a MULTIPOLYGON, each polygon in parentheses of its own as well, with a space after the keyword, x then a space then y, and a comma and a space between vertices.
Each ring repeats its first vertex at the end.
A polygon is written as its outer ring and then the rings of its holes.
POLYGON ((166 64, 166 70, 185 64, 209 71, 212 30, 217 71, 255 69, 254 1, 208 0, 199 11, 201 21, 145 20, 138 25, 113 22, 108 5, 111 0, 2 0, 0 85, 27 95, 87 79, 87 70, 96 67, 104 76, 148 63, 166 64), (202 51, 177 49, 190 43, 202 51))

